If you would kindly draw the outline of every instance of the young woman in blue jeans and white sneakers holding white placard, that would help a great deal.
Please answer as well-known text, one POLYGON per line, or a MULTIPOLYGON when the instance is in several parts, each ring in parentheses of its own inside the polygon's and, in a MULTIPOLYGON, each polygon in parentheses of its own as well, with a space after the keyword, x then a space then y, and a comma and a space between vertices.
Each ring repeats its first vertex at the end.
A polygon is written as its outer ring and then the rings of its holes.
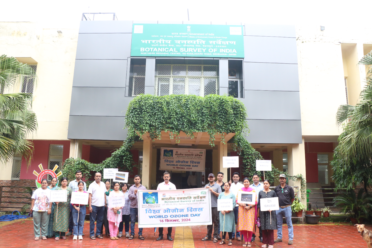
MULTIPOLYGON (((80 193, 88 193, 87 191, 84 191, 84 182, 79 181, 77 183, 77 187, 79 188, 75 192, 80 192, 80 193)), ((79 236, 79 240, 83 239, 83 229, 84 229, 84 219, 86 215, 87 208, 85 205, 76 205, 72 204, 73 209, 72 209, 72 218, 74 220, 74 228, 73 228, 73 235, 74 238, 73 240, 77 240, 77 236, 79 236), (81 207, 80 207, 81 206, 81 207)))

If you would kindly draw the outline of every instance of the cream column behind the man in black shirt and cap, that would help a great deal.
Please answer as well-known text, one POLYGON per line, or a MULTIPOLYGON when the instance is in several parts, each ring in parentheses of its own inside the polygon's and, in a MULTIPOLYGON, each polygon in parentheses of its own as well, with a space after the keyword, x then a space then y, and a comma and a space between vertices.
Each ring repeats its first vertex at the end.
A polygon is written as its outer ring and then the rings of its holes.
MULTIPOLYGON (((287 146, 288 151, 288 174, 291 176, 302 174, 306 178, 305 165, 305 140, 302 138, 302 144, 293 144, 287 146)), ((289 186, 298 186, 298 196, 301 198, 301 182, 289 180, 289 186)), ((306 189, 305 189, 306 190, 306 189)), ((302 199, 302 203, 306 204, 306 199, 302 199)))

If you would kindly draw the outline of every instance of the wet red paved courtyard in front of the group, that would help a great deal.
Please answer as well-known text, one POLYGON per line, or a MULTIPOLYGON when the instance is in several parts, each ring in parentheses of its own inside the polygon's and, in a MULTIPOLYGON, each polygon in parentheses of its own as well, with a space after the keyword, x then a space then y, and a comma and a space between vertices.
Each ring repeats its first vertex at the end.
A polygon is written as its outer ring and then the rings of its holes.
MULTIPOLYGON (((367 226, 372 229, 371 226, 367 226)), ((137 225, 136 225, 136 230, 137 225)), ((258 231, 258 230, 257 230, 258 231)), ((166 228, 164 228, 166 232, 166 228)), ((276 231, 275 231, 276 233, 276 231)), ((156 241, 158 235, 154 236, 153 228, 145 228, 143 235, 144 241, 137 238, 129 240, 124 237, 119 240, 111 240, 109 238, 92 240, 89 238, 89 222, 85 223, 84 239, 81 241, 73 241, 72 236, 67 237, 66 240, 60 239, 55 241, 54 238, 47 240, 33 240, 33 222, 32 220, 20 220, 16 222, 0 222, 0 248, 31 248, 31 247, 73 247, 73 248, 215 248, 227 247, 227 245, 219 245, 212 241, 201 241, 206 234, 206 226, 185 226, 173 228, 172 237, 174 241, 161 240, 156 241)), ((257 233, 258 234, 258 233, 257 233)), ((367 247, 366 242, 362 236, 357 232, 356 227, 349 224, 319 224, 319 225, 294 225, 294 244, 288 245, 288 230, 283 228, 284 239, 282 243, 274 245, 274 248, 282 247, 367 247)), ((164 235, 165 236, 165 235, 164 235)), ((276 234, 274 236, 276 238, 276 234)), ((236 239, 231 247, 241 247, 243 243, 236 239)), ((255 241, 252 247, 261 247, 259 241, 255 241)))

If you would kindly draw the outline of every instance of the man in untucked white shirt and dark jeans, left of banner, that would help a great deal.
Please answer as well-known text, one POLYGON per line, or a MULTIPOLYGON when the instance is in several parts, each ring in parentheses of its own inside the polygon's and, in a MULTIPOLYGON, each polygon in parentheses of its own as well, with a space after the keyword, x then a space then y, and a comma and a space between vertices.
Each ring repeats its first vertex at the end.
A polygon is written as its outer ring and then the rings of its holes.
POLYGON ((96 172, 94 175, 94 182, 89 185, 89 220, 90 220, 90 238, 103 239, 102 233, 102 222, 103 222, 103 212, 106 206, 106 186, 101 182, 102 175, 99 172, 96 172), (94 221, 97 220, 97 229, 96 235, 94 235, 94 221))

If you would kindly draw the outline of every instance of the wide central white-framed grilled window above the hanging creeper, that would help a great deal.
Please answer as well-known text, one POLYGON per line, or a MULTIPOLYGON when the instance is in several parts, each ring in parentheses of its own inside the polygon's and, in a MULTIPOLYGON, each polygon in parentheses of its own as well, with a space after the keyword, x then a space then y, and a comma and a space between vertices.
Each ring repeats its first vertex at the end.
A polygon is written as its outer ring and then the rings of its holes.
POLYGON ((217 94, 217 65, 157 65, 158 96, 217 94))

